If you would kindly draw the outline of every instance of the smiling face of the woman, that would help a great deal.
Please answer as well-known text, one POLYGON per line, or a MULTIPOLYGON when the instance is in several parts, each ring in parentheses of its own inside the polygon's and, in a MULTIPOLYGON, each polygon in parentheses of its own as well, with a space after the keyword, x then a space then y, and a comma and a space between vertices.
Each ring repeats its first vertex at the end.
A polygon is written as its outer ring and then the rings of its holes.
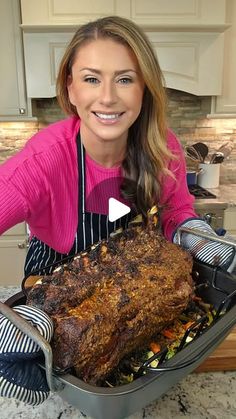
POLYGON ((79 48, 68 93, 88 140, 126 142, 140 113, 143 92, 137 59, 127 46, 98 39, 79 48))

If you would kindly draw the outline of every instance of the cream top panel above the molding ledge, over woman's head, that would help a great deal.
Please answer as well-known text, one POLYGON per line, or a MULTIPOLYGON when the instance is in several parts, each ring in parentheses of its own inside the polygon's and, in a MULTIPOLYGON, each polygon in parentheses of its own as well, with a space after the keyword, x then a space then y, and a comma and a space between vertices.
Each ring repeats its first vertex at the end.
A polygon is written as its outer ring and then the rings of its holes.
POLYGON ((225 0, 21 0, 21 9, 24 26, 79 25, 108 15, 155 27, 225 23, 225 0))

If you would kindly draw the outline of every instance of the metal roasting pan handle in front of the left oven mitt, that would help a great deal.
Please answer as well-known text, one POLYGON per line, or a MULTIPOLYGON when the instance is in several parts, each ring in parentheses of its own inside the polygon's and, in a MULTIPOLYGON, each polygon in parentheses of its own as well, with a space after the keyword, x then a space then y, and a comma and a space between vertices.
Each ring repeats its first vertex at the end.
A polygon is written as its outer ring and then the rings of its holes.
POLYGON ((37 345, 42 349, 45 357, 45 370, 48 387, 53 392, 61 390, 62 383, 56 380, 52 374, 52 348, 48 341, 37 331, 37 329, 31 326, 31 324, 12 310, 12 308, 2 302, 0 302, 0 313, 2 313, 8 320, 10 320, 10 322, 12 322, 18 329, 37 343, 37 345))

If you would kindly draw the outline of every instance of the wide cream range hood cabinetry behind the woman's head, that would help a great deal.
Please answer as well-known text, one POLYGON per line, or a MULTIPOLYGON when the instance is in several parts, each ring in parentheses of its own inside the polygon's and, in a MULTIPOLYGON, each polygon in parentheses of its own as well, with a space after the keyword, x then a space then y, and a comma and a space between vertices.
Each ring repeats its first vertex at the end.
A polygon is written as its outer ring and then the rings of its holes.
POLYGON ((226 0, 21 0, 21 8, 29 97, 55 96, 58 65, 74 31, 106 15, 127 17, 146 31, 167 87, 222 92, 226 0))

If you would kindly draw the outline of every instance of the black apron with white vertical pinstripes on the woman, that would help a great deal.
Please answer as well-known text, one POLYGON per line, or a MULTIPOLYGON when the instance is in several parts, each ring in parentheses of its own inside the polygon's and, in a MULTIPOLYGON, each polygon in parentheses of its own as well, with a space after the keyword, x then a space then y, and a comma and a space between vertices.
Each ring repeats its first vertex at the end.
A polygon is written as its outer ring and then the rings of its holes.
POLYGON ((108 239, 110 234, 120 227, 127 228, 131 218, 135 215, 133 211, 122 218, 110 222, 108 215, 95 214, 85 211, 86 199, 86 168, 85 168, 85 149, 77 136, 77 155, 79 170, 79 202, 78 202, 78 227, 71 250, 62 254, 56 252, 47 244, 33 236, 25 261, 25 276, 30 274, 48 275, 59 265, 65 258, 73 257, 77 253, 87 249, 90 245, 102 240, 108 239))

